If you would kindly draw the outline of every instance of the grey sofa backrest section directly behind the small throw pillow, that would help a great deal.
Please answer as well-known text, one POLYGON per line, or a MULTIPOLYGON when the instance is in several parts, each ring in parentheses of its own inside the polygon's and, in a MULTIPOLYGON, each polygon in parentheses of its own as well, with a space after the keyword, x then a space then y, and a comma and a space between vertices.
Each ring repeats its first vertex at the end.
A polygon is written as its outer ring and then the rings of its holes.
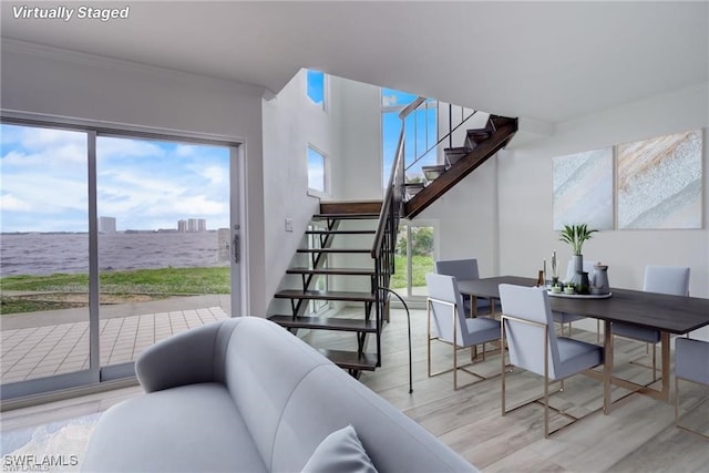
POLYGON ((311 370, 288 400, 271 472, 301 471, 320 442, 348 424, 380 473, 476 471, 392 404, 328 363, 311 370))

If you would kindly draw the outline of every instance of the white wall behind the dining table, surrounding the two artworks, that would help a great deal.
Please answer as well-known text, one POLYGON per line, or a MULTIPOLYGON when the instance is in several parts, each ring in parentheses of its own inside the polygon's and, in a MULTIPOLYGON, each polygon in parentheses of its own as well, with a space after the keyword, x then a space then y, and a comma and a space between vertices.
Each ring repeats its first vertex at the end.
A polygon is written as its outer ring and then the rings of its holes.
POLYGON ((552 157, 705 128, 705 228, 604 230, 584 245, 584 254, 608 265, 612 286, 630 289, 641 288, 646 265, 689 266, 690 292, 709 297, 708 99, 707 84, 655 96, 557 124, 552 137, 500 153, 500 274, 534 276, 553 249, 562 261, 571 258, 552 229, 552 157))

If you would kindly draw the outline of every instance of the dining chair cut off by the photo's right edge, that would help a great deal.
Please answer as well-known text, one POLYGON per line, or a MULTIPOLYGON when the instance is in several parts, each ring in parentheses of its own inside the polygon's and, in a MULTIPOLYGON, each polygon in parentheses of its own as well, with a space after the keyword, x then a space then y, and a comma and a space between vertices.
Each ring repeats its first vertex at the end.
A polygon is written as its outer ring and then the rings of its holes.
POLYGON ((709 342, 691 338, 678 338, 675 341, 675 425, 709 440, 709 435, 679 423, 679 380, 709 387, 709 342))

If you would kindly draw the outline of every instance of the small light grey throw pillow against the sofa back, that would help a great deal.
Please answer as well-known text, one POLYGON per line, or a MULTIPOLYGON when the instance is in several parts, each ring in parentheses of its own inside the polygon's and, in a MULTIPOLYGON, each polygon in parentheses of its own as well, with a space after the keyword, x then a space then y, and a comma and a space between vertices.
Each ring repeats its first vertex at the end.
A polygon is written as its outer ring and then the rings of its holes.
POLYGON ((352 425, 325 438, 304 466, 305 473, 377 473, 352 425))

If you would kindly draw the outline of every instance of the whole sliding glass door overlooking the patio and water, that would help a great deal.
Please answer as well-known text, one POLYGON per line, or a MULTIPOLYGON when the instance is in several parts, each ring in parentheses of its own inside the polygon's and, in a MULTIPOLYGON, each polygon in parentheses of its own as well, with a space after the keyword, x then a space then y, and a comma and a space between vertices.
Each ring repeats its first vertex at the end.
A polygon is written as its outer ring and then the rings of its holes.
POLYGON ((238 143, 0 126, 3 400, 131 377, 240 312, 238 143))

